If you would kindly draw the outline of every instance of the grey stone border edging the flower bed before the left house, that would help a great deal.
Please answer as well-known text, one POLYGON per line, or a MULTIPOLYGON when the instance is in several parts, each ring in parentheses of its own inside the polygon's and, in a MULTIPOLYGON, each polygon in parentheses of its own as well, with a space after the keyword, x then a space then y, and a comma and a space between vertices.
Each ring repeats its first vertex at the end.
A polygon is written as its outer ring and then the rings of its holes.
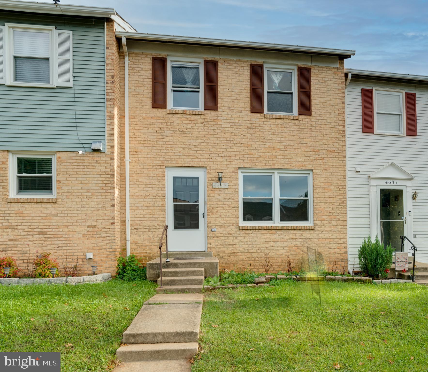
POLYGON ((64 277, 64 278, 0 278, 0 285, 3 286, 28 286, 32 284, 88 284, 104 283, 111 280, 111 274, 87 275, 85 277, 64 277))

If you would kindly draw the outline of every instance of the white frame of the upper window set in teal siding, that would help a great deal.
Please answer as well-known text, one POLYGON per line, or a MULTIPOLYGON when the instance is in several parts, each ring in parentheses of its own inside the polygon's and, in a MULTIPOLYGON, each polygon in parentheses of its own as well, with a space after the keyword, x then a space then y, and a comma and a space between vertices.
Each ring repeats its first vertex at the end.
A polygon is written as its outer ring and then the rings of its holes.
MULTIPOLYGON (((55 27, 41 26, 41 25, 30 25, 30 24, 14 24, 5 23, 5 40, 6 40, 6 85, 9 86, 30 86, 39 88, 55 88, 54 78, 56 76, 56 63, 55 63, 55 27), (34 32, 49 32, 50 37, 50 56, 49 56, 49 73, 50 73, 50 84, 46 83, 27 83, 27 82, 15 82, 14 81, 14 67, 13 67, 13 31, 14 30, 27 30, 34 32)), ((37 56, 25 56, 37 58, 37 56)), ((45 58, 45 57, 43 57, 45 58)))

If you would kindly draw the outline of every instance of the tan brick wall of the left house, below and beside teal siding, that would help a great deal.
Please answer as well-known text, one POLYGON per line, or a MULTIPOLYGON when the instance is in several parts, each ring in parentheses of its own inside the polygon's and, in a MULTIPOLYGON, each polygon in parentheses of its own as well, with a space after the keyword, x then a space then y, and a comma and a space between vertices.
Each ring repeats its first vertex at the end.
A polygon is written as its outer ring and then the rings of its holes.
POLYGON ((9 159, 0 151, 0 257, 13 256, 19 268, 39 252, 52 252, 63 269, 76 259, 82 274, 112 273, 120 244, 119 46, 107 23, 107 151, 56 153, 56 199, 9 199, 9 159), (86 252, 94 260, 86 261, 86 252))

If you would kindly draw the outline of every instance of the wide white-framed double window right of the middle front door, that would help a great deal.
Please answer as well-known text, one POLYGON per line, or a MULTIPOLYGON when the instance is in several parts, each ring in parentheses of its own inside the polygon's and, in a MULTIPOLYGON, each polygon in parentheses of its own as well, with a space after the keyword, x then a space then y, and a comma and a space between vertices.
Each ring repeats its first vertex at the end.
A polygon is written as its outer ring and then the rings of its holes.
POLYGON ((239 170, 241 225, 312 225, 312 171, 239 170))

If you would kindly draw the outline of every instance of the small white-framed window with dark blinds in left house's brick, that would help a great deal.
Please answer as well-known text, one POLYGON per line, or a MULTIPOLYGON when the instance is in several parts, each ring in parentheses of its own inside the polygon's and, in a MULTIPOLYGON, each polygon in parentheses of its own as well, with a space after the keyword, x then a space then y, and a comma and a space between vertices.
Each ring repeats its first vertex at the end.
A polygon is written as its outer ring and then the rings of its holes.
POLYGON ((10 197, 56 196, 55 154, 9 154, 10 197))

